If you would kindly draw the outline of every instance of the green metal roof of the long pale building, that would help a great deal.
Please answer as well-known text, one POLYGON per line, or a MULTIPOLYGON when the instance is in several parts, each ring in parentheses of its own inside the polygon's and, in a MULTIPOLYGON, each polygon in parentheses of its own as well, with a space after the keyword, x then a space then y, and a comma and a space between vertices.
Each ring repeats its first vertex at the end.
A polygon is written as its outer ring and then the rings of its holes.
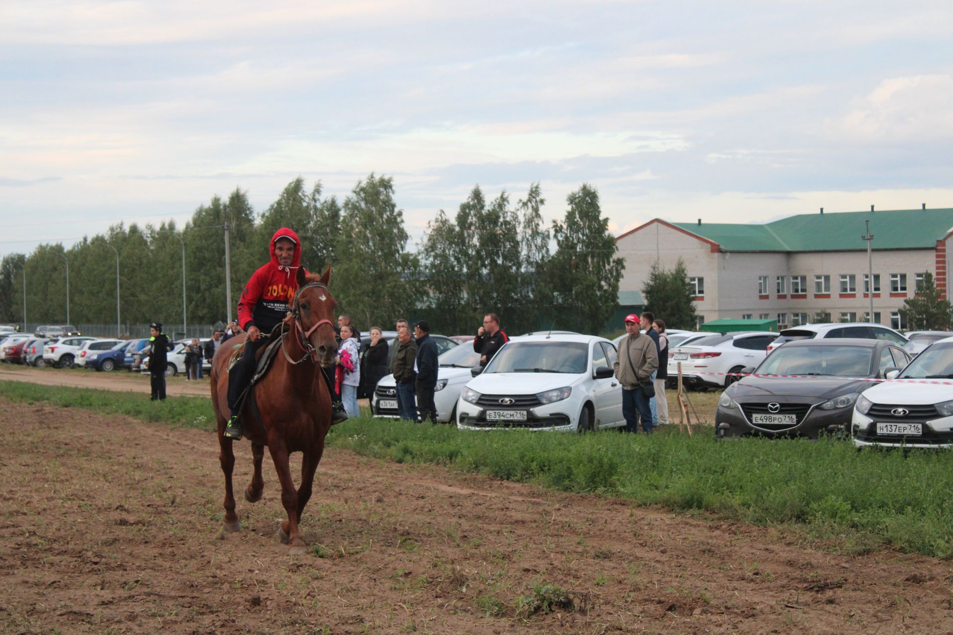
POLYGON ((725 251, 848 251, 866 250, 861 236, 868 220, 874 250, 935 248, 953 230, 953 208, 799 214, 764 225, 672 225, 725 251))

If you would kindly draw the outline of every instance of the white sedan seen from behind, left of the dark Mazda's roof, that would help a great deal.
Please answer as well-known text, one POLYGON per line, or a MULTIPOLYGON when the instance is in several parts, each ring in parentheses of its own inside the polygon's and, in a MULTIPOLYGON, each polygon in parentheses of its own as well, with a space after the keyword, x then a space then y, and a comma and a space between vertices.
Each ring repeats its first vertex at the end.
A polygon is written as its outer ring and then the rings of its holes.
POLYGON ((668 348, 668 377, 677 379, 681 364, 681 383, 689 387, 725 387, 740 377, 745 367, 757 367, 767 356, 766 349, 778 337, 771 331, 712 333, 694 342, 668 348))

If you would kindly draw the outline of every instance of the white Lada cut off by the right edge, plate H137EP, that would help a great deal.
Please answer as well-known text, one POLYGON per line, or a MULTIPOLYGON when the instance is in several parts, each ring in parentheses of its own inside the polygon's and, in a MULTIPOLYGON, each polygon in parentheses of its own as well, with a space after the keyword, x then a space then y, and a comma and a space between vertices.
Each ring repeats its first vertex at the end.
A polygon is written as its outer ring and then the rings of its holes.
POLYGON ((887 377, 912 381, 864 390, 851 421, 854 445, 953 447, 953 337, 924 348, 887 377))

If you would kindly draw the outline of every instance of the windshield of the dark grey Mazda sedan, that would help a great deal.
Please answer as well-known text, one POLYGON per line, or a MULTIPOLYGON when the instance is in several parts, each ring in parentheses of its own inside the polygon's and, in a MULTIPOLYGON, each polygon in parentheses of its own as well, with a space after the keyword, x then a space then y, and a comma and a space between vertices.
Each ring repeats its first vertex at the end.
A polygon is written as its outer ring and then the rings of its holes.
POLYGON ((866 377, 875 347, 781 347, 755 371, 760 375, 866 377))

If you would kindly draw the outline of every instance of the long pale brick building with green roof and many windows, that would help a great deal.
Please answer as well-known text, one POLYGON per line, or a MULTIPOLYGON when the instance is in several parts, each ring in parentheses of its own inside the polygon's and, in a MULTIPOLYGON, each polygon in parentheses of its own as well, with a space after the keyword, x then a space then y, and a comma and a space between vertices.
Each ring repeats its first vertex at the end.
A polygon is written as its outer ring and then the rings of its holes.
POLYGON ((764 225, 649 221, 616 239, 625 259, 620 291, 640 291, 649 268, 685 263, 700 322, 777 319, 781 327, 866 322, 869 221, 874 321, 902 328, 899 308, 923 273, 944 297, 950 289, 946 242, 953 208, 801 214, 764 225))

